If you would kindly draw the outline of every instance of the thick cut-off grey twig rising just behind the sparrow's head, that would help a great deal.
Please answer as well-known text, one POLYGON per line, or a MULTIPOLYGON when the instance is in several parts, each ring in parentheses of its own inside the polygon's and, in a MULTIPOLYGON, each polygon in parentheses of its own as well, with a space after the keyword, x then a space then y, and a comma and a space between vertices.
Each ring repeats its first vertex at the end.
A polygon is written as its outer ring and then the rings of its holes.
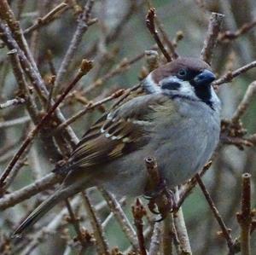
POLYGON ((201 59, 207 63, 211 63, 212 53, 218 41, 218 32, 220 31, 224 14, 212 13, 207 30, 207 38, 204 41, 201 50, 201 59))

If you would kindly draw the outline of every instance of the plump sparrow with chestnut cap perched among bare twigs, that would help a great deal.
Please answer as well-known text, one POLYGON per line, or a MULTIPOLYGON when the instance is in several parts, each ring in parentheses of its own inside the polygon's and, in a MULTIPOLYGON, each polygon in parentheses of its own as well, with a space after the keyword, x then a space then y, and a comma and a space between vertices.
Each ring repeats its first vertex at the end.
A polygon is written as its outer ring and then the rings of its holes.
POLYGON ((98 186, 115 195, 140 196, 147 183, 143 159, 154 157, 168 188, 193 177, 218 145, 221 103, 212 68, 178 57, 150 72, 84 133, 60 187, 15 229, 32 227, 61 200, 98 186))

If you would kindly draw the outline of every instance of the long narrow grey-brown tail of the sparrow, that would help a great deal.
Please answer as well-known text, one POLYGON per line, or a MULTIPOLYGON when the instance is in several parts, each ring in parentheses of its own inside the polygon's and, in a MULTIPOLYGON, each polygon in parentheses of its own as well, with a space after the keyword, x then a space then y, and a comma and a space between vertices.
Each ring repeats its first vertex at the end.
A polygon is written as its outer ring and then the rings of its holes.
POLYGON ((81 190, 81 183, 75 183, 67 188, 59 188, 54 194, 50 195, 47 200, 40 204, 26 219, 15 229, 12 237, 19 237, 25 229, 32 227, 34 223, 44 216, 49 210, 51 210, 61 200, 65 200, 73 194, 77 194, 81 190), (79 184, 79 185, 78 185, 79 184))

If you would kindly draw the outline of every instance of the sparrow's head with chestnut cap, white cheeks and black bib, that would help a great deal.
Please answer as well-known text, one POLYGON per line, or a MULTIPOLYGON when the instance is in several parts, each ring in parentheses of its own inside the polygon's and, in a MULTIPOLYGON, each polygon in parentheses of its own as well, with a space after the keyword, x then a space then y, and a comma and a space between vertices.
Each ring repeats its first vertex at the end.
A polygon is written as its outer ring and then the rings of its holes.
POLYGON ((144 79, 143 86, 149 93, 187 97, 214 107, 218 102, 211 85, 214 79, 215 75, 205 61, 179 57, 151 72, 144 79))

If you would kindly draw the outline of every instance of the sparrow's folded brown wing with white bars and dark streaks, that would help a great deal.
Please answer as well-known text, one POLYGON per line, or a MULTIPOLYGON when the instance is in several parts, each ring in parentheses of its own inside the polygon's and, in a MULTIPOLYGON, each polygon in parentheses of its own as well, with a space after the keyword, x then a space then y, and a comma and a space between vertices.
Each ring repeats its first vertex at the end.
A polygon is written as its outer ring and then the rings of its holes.
MULTIPOLYGON (((163 103, 159 95, 138 96, 102 116, 92 125, 73 151, 69 169, 102 165, 143 147, 148 142, 154 107, 163 103)), ((152 126, 151 126, 152 128, 152 126)))

